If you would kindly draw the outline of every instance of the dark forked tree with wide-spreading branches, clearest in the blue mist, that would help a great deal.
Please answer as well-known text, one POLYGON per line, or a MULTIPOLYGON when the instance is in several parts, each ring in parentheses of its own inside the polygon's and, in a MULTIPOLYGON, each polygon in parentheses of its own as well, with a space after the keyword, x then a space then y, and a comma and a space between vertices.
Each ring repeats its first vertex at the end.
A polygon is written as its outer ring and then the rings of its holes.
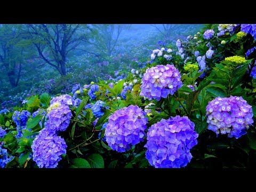
POLYGON ((81 38, 76 35, 81 25, 27 25, 39 57, 57 69, 61 76, 67 75, 66 61, 71 50, 80 44, 81 38))

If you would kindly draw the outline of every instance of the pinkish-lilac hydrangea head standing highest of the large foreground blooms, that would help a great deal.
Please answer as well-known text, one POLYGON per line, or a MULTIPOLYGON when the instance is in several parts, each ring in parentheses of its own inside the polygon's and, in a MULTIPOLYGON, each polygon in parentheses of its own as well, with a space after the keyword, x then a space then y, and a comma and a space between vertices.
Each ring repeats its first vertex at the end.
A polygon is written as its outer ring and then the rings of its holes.
POLYGON ((181 75, 174 65, 157 65, 146 70, 142 77, 141 96, 159 101, 173 95, 182 86, 181 75))

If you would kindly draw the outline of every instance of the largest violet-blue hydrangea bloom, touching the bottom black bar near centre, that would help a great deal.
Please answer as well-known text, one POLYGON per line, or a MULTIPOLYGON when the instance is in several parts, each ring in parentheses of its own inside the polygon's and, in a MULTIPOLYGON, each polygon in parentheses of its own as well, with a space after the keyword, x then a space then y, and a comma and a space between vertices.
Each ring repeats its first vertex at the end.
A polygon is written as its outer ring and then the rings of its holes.
POLYGON ((146 158, 156 168, 186 166, 192 155, 190 149, 197 145, 195 124, 179 115, 152 125, 147 133, 146 158))

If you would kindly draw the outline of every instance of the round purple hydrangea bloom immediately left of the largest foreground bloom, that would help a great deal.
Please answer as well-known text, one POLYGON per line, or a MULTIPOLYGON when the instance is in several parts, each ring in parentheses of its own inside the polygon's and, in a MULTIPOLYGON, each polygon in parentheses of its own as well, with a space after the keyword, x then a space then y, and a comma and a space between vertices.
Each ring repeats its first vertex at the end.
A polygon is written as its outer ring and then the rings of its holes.
POLYGON ((125 152, 143 141, 148 118, 138 106, 123 107, 108 117, 105 130, 106 141, 111 149, 125 152))

